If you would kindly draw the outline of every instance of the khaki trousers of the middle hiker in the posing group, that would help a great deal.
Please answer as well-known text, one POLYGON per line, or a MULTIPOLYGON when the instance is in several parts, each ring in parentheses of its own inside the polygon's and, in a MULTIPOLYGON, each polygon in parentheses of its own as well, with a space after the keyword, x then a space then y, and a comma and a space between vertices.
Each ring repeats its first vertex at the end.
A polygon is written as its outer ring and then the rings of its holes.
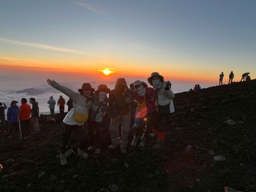
POLYGON ((122 121, 122 134, 121 134, 121 140, 120 140, 120 147, 125 148, 128 143, 128 137, 130 133, 130 122, 131 122, 131 113, 128 112, 126 115, 117 115, 117 124, 112 124, 112 118, 110 121, 110 137, 113 140, 113 144, 119 143, 119 134, 118 134, 118 127, 119 127, 119 121, 122 121))

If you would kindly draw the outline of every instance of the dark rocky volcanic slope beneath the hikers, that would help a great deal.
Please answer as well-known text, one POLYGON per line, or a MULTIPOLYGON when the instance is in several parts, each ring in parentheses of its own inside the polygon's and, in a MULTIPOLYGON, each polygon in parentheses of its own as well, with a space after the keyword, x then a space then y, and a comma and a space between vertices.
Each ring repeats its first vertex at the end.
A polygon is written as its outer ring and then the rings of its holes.
MULTIPOLYGON (((0 133, 0 191, 256 191, 255 85, 252 80, 175 94, 162 150, 152 149, 156 138, 132 148, 131 130, 127 154, 109 151, 109 113, 102 122, 101 154, 88 152, 82 159, 73 153, 67 167, 58 158, 61 123, 40 127, 26 140, 0 133), (224 123, 229 119, 236 124, 224 123), (226 160, 215 161, 216 155, 226 160)), ((75 134, 70 145, 76 152, 75 134)))

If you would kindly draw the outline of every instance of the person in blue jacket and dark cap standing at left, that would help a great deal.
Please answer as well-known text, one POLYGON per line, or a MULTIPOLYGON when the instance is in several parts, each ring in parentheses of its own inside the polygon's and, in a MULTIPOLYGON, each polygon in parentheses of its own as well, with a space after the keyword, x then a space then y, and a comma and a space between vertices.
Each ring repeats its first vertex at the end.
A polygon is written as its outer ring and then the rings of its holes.
POLYGON ((8 130, 8 138, 12 138, 12 132, 15 131, 16 133, 19 130, 19 122, 18 122, 18 114, 19 114, 19 107, 17 106, 18 101, 13 100, 11 102, 11 107, 7 110, 7 121, 10 124, 8 130))

